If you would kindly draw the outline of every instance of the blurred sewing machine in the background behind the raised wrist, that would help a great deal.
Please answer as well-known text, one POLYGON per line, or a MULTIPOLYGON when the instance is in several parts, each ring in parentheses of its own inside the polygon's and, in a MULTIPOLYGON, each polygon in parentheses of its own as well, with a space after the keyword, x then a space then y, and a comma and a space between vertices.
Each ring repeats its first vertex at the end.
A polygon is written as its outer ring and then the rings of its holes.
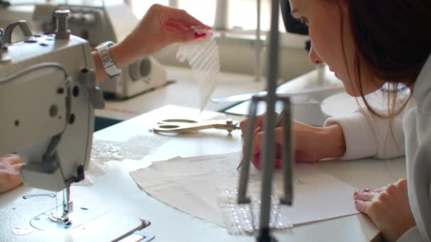
MULTIPOLYGON (((53 33, 52 13, 56 9, 71 11, 69 28, 72 35, 87 40, 91 47, 111 40, 120 42, 138 24, 138 18, 125 4, 91 4, 89 6, 36 4, 33 21, 43 33, 53 33)), ((167 83, 166 70, 152 57, 145 57, 122 69, 120 76, 101 83, 107 98, 125 99, 150 91, 167 83)))

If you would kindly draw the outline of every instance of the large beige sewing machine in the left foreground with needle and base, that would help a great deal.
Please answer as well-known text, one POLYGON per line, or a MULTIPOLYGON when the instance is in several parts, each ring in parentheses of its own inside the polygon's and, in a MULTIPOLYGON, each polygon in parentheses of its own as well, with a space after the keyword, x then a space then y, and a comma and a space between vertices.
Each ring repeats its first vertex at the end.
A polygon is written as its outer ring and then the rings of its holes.
MULTIPOLYGON (((67 10, 55 11, 57 30, 52 35, 33 35, 25 21, 1 30, 0 155, 16 152, 21 156, 25 163, 21 176, 29 187, 63 191, 58 207, 61 214, 55 214, 57 207, 47 211, 29 200, 26 206, 14 205, 13 219, 8 223, 31 224, 36 230, 31 238, 38 240, 46 237, 43 232, 52 226, 60 231, 60 238, 67 234, 77 241, 82 238, 82 230, 91 233, 114 228, 100 238, 117 240, 145 228, 147 222, 106 211, 87 212, 89 209, 82 209, 82 205, 73 212, 70 186, 84 180, 90 161, 94 109, 103 108, 104 103, 103 93, 96 86, 91 48, 86 40, 70 35, 68 15, 67 10), (11 34, 17 26, 25 40, 12 43, 11 34), (115 229, 119 221, 127 226, 115 229)), ((6 241, 16 239, 11 231, 0 234, 6 241)))

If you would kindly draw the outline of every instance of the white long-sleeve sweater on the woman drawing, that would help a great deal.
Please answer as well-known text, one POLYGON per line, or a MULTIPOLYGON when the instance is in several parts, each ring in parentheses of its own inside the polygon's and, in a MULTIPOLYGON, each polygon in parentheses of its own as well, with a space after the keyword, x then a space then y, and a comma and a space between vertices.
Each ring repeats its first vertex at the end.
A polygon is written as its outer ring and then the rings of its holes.
POLYGON ((371 117, 364 108, 347 117, 332 117, 345 135, 342 159, 375 156, 388 159, 405 154, 410 208, 416 226, 399 241, 431 241, 431 55, 415 81, 413 98, 403 115, 393 120, 371 117))

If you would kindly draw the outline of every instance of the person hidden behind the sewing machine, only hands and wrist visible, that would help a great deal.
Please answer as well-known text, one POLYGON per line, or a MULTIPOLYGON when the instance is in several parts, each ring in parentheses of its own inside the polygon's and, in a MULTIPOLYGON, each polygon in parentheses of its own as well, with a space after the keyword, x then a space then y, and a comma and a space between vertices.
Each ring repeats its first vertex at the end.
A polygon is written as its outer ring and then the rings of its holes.
MULTIPOLYGON (((118 69, 161 50, 175 42, 187 42, 205 38, 196 34, 191 26, 209 28, 186 11, 155 4, 148 9, 136 28, 122 42, 109 47, 109 53, 118 69)), ((97 81, 108 79, 96 52, 92 53, 96 64, 97 81)), ((0 157, 0 193, 16 188, 22 183, 19 170, 23 161, 16 154, 0 157)))

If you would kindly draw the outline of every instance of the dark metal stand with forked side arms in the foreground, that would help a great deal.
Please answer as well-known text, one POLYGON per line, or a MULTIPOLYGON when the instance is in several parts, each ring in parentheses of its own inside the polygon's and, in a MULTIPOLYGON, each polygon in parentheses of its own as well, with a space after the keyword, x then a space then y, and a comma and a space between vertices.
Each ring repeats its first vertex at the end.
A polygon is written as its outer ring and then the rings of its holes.
POLYGON ((250 173, 250 156, 252 155, 252 139, 254 137, 254 128, 256 126, 257 104, 260 101, 267 103, 267 115, 264 123, 265 137, 262 147, 262 197, 260 209, 259 236, 257 241, 276 241, 272 237, 269 229, 271 214, 271 192, 272 192, 272 175, 274 173, 275 158, 275 133, 276 114, 275 103, 277 100, 284 103, 283 125, 284 125, 284 149, 283 172, 284 172, 284 197, 281 198, 281 204, 291 205, 293 200, 293 183, 292 183, 292 166, 293 159, 292 142, 291 142, 291 110, 289 97, 276 96, 276 79, 278 76, 279 65, 279 0, 272 0, 272 19, 271 35, 269 38, 269 55, 268 55, 268 95, 254 96, 250 105, 248 117, 247 132, 245 133, 245 144, 242 158, 242 170, 240 174, 240 183, 238 188, 238 203, 250 203, 247 194, 247 183, 250 173))

